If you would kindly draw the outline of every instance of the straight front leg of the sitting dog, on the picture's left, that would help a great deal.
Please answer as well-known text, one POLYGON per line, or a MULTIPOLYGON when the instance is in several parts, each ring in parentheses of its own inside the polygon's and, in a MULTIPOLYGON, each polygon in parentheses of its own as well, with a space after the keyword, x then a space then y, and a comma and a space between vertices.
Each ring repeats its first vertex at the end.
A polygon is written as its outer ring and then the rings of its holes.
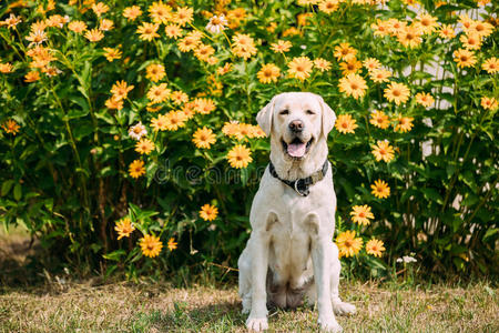
POLYGON ((255 332, 268 329, 267 322, 267 294, 266 278, 268 269, 269 240, 265 231, 254 230, 248 241, 251 251, 251 312, 246 321, 246 327, 255 332))

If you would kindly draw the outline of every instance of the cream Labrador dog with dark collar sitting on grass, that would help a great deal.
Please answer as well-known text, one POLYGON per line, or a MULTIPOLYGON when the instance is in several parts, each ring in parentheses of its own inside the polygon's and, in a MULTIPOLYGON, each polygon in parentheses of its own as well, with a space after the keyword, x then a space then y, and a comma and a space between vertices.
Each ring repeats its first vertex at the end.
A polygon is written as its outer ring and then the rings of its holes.
POLYGON ((327 161, 334 111, 314 93, 287 92, 256 115, 271 135, 271 164, 256 193, 252 234, 237 262, 246 326, 268 329, 267 302, 296 307, 317 302, 323 330, 339 332, 336 314, 355 306, 338 295, 338 249, 333 243, 336 194, 327 161))

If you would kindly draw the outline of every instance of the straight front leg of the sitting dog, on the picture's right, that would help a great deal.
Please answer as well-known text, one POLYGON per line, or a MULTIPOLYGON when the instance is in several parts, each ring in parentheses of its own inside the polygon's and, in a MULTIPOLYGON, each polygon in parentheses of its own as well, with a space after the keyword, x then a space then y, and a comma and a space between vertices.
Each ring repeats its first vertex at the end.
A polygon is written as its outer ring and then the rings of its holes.
POLYGON ((317 287, 318 323, 322 330, 340 332, 342 326, 339 326, 335 319, 330 301, 332 241, 328 234, 318 232, 318 226, 320 225, 318 221, 310 222, 315 222, 317 226, 315 229, 317 232, 315 234, 313 233, 312 236, 312 262, 314 264, 314 278, 317 287))

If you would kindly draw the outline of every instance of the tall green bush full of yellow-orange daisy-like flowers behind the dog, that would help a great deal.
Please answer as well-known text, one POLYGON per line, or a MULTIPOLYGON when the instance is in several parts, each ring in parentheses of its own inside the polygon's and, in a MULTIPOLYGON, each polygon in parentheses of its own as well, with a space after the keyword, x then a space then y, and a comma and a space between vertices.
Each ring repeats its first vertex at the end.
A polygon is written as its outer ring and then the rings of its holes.
MULTIPOLYGON (((335 241, 384 274, 497 268, 489 1, 16 1, 0 16, 0 219, 81 272, 234 266, 268 163, 256 112, 336 111, 335 241)), ((161 269, 161 270, 159 270, 161 269)))

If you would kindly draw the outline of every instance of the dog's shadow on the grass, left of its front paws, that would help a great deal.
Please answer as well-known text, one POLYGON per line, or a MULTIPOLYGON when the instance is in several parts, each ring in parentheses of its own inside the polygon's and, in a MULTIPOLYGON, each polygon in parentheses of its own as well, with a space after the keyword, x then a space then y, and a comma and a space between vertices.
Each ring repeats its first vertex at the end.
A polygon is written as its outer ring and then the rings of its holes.
POLYGON ((241 302, 221 302, 192 309, 189 302, 175 302, 173 311, 153 310, 139 313, 132 322, 132 332, 233 332, 244 329, 246 315, 241 302))

